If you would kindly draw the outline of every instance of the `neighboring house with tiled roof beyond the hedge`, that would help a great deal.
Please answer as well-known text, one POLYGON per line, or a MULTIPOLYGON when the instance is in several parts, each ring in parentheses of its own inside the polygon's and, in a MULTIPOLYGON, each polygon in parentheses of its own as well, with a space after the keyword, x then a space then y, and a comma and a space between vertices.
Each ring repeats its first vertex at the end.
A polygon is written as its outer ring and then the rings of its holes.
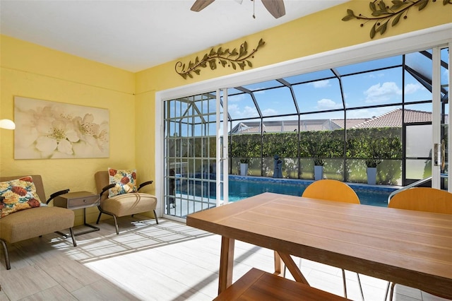
MULTIPOLYGON (((432 112, 405 110, 405 123, 432 122, 432 112)), ((448 115, 446 115, 448 123, 448 115)), ((401 127, 402 109, 396 109, 386 114, 362 119, 347 119, 347 129, 369 127, 401 127)), ((300 120, 300 131, 333 131, 344 129, 344 119, 307 119, 300 120)), ((298 120, 278 120, 263 123, 264 133, 284 133, 298 131, 298 120)), ((232 134, 261 133, 261 122, 240 122, 232 129, 232 134)))

